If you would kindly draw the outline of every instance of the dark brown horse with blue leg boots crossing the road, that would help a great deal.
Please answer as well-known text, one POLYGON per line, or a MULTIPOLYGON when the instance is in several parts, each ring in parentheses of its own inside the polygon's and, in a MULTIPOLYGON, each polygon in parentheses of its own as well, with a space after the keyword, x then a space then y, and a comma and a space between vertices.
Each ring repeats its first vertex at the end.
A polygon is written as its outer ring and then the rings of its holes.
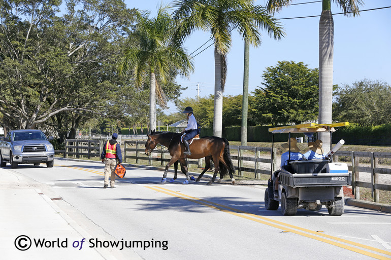
MULTIPOLYGON (((204 173, 210 168, 210 161, 215 162, 215 171, 212 177, 212 180, 207 184, 212 184, 217 176, 217 173, 220 171, 220 180, 222 177, 229 173, 232 183, 235 184, 235 179, 233 174, 235 174, 235 167, 231 161, 230 157, 230 143, 225 138, 220 138, 216 136, 208 136, 200 139, 194 139, 190 144, 191 155, 185 156, 183 152, 185 151, 184 144, 180 141, 181 133, 172 133, 172 132, 155 132, 154 130, 148 134, 148 139, 145 143, 145 154, 150 155, 152 150, 156 147, 157 144, 164 145, 168 148, 171 160, 166 165, 165 172, 163 174, 162 183, 166 182, 166 177, 168 169, 170 166, 179 160, 181 164, 181 170, 186 175, 186 180, 183 184, 188 184, 190 179, 189 173, 187 171, 187 164, 185 159, 200 159, 205 157, 206 166, 204 171, 200 174, 196 181, 199 181, 204 173)), ((176 177, 176 176, 175 176, 176 177)))

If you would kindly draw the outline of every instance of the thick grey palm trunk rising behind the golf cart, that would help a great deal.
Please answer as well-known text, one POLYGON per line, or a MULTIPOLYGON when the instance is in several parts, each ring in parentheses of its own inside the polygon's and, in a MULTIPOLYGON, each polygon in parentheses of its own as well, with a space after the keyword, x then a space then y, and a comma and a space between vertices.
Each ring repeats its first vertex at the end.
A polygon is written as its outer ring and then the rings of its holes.
MULTIPOLYGON (((330 0, 323 0, 319 20, 319 124, 332 123, 334 21, 330 0)), ((323 151, 330 151, 330 134, 322 133, 323 151)))

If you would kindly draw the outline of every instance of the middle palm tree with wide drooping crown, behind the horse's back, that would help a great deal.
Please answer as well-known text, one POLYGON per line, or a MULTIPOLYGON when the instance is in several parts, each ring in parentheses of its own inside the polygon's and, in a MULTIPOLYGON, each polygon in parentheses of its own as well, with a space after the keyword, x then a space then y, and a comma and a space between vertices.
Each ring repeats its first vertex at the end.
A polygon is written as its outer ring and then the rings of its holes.
POLYGON ((227 73, 226 56, 231 48, 231 32, 237 29, 253 46, 260 45, 258 28, 279 40, 284 35, 280 24, 253 0, 177 0, 174 19, 178 21, 176 39, 184 39, 196 29, 210 31, 214 41, 215 85, 213 135, 221 137, 222 93, 227 73))

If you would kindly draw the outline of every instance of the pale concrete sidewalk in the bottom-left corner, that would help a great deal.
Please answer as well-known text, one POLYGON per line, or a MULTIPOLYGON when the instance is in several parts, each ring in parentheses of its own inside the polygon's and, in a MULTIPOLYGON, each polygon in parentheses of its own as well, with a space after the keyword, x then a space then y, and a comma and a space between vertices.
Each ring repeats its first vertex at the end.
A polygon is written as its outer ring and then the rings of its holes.
POLYGON ((48 185, 3 168, 0 176, 2 259, 142 259, 130 249, 89 248, 90 238, 116 239, 48 185))

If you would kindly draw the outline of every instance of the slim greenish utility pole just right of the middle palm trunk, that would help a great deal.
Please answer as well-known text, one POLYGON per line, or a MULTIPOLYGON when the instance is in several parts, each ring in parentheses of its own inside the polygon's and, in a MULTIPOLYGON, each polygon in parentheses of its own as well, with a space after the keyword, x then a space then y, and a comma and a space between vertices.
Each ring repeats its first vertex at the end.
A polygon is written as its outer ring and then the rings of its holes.
POLYGON ((247 113, 248 113, 248 73, 250 61, 250 43, 244 40, 244 71, 243 71, 243 103, 242 103, 242 145, 247 145, 247 113))

